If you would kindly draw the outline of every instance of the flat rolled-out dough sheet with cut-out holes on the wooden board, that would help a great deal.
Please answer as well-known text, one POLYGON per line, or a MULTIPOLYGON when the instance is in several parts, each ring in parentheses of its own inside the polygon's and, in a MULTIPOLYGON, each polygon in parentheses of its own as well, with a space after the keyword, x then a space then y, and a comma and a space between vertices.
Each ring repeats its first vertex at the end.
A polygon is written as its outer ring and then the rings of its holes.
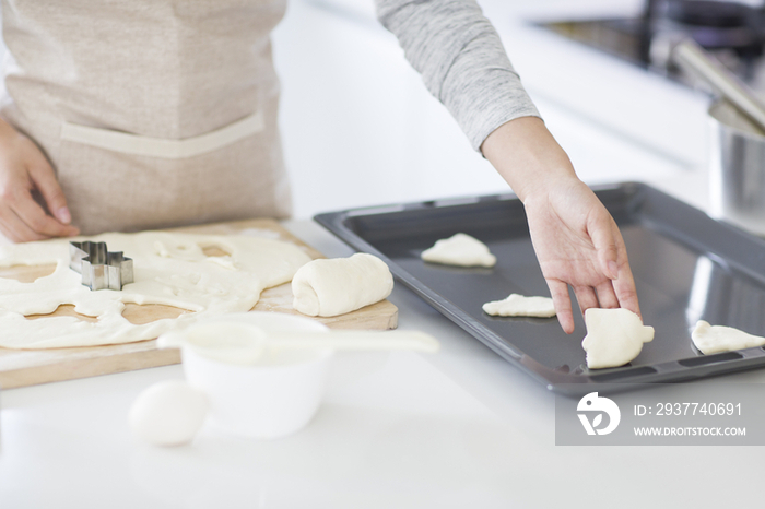
POLYGON ((132 258, 134 282, 119 292, 92 292, 83 286, 81 275, 69 268, 70 239, 3 246, 1 268, 55 263, 56 270, 33 283, 0 277, 0 346, 51 348, 150 340, 199 318, 249 311, 263 289, 289 282, 310 261, 295 245, 250 236, 146 232, 87 239, 105 241, 110 251, 123 251, 132 258), (211 246, 229 256, 205 256, 203 249, 211 246), (136 325, 121 315, 130 303, 162 304, 193 312, 136 325), (64 304, 98 320, 24 318, 51 313, 64 304))

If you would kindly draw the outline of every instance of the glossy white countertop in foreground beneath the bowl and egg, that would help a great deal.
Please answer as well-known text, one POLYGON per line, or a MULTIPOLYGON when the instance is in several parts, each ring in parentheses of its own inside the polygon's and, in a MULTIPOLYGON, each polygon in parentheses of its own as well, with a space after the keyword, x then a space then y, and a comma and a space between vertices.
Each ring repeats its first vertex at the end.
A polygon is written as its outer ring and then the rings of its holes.
MULTIPOLYGON (((351 252, 309 221, 287 226, 329 256, 351 252)), ((315 419, 279 440, 203 428, 187 447, 140 442, 127 425, 132 401, 156 381, 181 378, 179 366, 3 392, 1 506, 489 509, 758 502, 758 448, 556 447, 552 393, 408 289, 397 287, 390 300, 399 306, 400 328, 434 334, 442 352, 338 355, 315 419)), ((761 383, 765 371, 719 381, 761 383)))

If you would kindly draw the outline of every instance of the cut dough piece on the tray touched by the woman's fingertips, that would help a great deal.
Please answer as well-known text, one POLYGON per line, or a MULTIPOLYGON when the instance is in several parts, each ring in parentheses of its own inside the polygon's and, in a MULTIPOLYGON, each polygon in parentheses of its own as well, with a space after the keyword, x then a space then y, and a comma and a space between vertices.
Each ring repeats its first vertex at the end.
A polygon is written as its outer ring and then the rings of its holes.
POLYGON ((637 357, 643 343, 654 340, 654 328, 628 309, 590 308, 585 311, 587 335, 581 346, 590 369, 624 366, 637 357))

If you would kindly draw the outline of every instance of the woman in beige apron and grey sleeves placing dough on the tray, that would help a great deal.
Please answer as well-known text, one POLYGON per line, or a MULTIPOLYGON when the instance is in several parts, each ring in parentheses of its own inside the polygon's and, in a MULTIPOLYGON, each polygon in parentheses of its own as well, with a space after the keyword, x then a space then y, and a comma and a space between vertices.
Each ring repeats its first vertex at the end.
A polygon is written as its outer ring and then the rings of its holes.
MULTIPOLYGON (((3 0, 0 232, 14 241, 290 213, 270 32, 285 0, 3 0), (54 169, 55 168, 55 169, 54 169), (35 194, 39 198, 35 200, 35 194)), ((377 0, 431 92, 523 201, 564 330, 638 312, 622 237, 472 0, 377 0)))

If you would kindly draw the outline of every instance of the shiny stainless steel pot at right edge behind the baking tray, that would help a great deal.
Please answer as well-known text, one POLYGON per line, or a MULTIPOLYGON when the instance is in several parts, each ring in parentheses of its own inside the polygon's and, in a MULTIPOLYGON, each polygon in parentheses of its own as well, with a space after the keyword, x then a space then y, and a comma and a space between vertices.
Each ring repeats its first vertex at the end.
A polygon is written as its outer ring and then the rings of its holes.
POLYGON ((726 100, 709 118, 710 214, 765 236, 765 131, 726 100))

